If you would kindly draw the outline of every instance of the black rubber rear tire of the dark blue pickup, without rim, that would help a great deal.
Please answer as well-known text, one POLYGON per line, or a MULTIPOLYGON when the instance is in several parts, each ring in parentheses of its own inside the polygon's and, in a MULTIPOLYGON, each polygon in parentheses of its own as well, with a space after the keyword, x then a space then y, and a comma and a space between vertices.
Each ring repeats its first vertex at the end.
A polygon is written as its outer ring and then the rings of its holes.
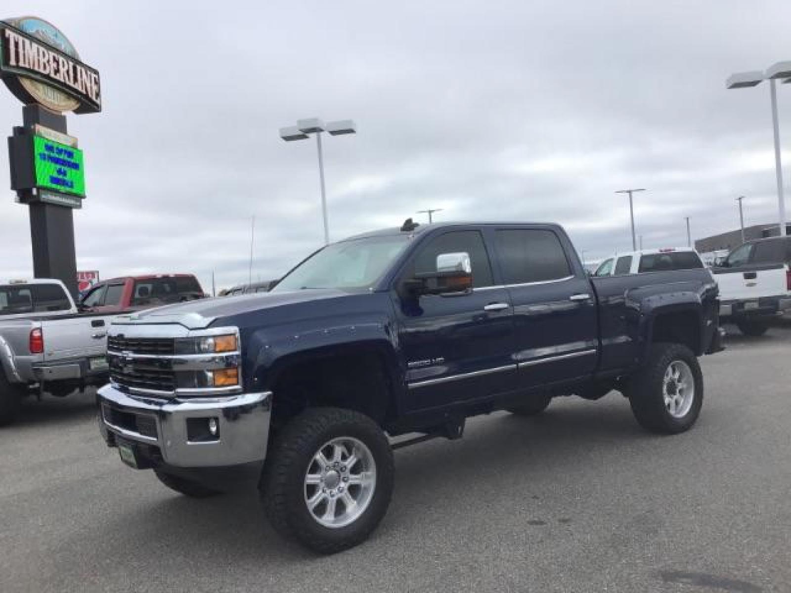
POLYGON ((698 358, 683 344, 657 342, 650 346, 643 367, 631 378, 626 389, 629 404, 638 424, 649 432, 678 434, 694 425, 703 403, 703 379, 698 358), (689 364, 695 378, 695 399, 689 414, 679 420, 671 417, 664 407, 661 383, 664 372, 672 361, 689 364))

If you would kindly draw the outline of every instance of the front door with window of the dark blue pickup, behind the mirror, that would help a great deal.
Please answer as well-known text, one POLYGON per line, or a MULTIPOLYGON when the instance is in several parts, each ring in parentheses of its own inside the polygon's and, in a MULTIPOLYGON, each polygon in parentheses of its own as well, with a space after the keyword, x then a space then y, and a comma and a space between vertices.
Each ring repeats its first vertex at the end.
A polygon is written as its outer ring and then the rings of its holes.
POLYGON ((437 255, 470 256, 468 293, 400 296, 399 346, 407 364, 409 410, 486 398, 513 387, 516 364, 508 291, 494 285, 490 253, 479 230, 448 230, 418 246, 401 281, 437 269, 437 255))

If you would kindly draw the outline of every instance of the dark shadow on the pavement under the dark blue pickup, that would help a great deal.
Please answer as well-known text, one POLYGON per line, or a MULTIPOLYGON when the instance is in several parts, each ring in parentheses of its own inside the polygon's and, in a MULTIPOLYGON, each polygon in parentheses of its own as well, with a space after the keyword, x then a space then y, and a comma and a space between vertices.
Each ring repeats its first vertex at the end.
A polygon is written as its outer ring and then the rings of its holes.
MULTIPOLYGON (((344 555, 365 553, 377 542, 387 546, 388 539, 403 531, 425 529, 431 513, 441 512, 450 501, 476 504, 478 499, 471 492, 476 484, 496 489, 497 482, 510 483, 515 476, 529 482, 531 476, 569 474, 590 464, 592 456, 596 463, 619 463, 629 442, 649 448, 662 438, 643 432, 628 403, 615 393, 603 402, 576 400, 557 402, 555 406, 553 402, 540 417, 493 414, 473 421, 461 440, 434 440, 395 451, 396 487, 388 515, 368 543, 344 555), (460 482, 471 486, 460 489, 460 482)), ((191 562, 205 559, 214 564, 244 559, 330 561, 284 542, 274 532, 259 504, 255 478, 228 484, 224 496, 205 500, 180 497, 166 490, 153 475, 146 478, 155 497, 141 504, 116 507, 104 528, 124 532, 126 542, 148 542, 152 563, 160 561, 159 554, 174 549, 191 562)), ((504 487, 503 492, 507 491, 504 487)), ((570 519, 558 521, 566 523, 570 519)), ((119 542, 119 550, 103 549, 99 553, 123 554, 125 545, 119 542)), ((138 549, 139 553, 142 550, 138 549)))

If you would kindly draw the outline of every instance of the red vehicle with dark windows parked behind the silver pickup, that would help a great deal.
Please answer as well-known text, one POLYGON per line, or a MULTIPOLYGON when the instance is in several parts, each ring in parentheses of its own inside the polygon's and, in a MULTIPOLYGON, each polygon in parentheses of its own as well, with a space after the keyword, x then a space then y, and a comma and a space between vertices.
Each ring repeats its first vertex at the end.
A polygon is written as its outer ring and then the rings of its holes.
POLYGON ((79 308, 82 312, 122 313, 205 296, 192 274, 125 276, 100 281, 85 293, 79 308))

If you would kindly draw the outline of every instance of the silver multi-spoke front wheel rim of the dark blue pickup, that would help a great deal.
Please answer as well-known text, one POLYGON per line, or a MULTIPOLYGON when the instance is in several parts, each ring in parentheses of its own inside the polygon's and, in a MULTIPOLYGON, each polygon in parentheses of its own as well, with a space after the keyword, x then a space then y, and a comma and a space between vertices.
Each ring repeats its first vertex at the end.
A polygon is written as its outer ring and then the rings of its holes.
POLYGON ((324 527, 354 523, 373 498, 377 464, 360 440, 342 436, 313 455, 305 473, 305 504, 324 527))

